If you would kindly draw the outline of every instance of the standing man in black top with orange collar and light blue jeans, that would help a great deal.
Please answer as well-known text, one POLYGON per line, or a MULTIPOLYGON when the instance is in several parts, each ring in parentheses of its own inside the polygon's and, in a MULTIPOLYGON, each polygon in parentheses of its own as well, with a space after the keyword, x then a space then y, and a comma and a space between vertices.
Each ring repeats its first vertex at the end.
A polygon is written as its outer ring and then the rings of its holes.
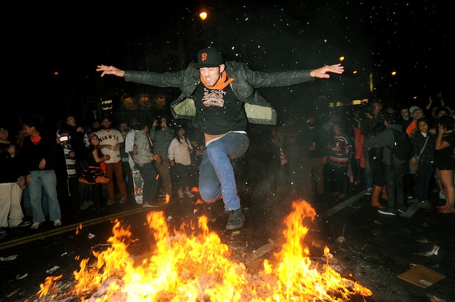
POLYGON ((28 136, 24 139, 22 159, 27 168, 27 183, 29 185, 30 203, 33 210, 31 229, 38 229, 45 222, 42 206, 43 190, 48 200, 49 219, 54 227, 62 226, 61 212, 57 197, 57 178, 55 176, 55 156, 57 144, 55 138, 41 133, 35 122, 24 124, 28 136))

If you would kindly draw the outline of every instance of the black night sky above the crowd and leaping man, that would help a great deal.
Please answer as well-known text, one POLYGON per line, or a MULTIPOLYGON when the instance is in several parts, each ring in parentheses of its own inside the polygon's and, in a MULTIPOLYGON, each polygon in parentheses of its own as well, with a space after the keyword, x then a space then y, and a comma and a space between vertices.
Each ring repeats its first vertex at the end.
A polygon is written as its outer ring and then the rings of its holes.
MULTIPOLYGON (((261 89, 281 115, 372 97, 370 73, 374 96, 386 102, 423 106, 438 90, 449 102, 450 11, 450 1, 27 4, 15 22, 26 30, 6 34, 11 55, 25 62, 13 71, 20 79, 15 87, 21 102, 14 102, 17 108, 8 118, 24 111, 64 116, 80 110, 87 98, 110 99, 144 89, 123 78, 99 78, 97 64, 178 71, 210 44, 223 50, 226 60, 246 62, 258 71, 314 69, 345 57, 344 75, 261 89), (209 13, 205 21, 198 17, 202 8, 209 13)), ((177 96, 179 90, 165 93, 177 96)))

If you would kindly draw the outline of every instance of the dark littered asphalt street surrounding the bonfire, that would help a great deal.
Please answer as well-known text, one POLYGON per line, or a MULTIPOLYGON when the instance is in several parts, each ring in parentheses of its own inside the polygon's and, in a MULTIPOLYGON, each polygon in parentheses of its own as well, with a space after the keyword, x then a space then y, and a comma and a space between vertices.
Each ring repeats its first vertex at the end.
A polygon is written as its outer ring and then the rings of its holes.
MULTIPOLYGON (((214 220, 209 222, 209 228, 230 247, 232 261, 242 262, 254 272, 262 268, 264 259, 272 259, 279 250, 283 219, 297 199, 286 191, 267 196, 251 192, 241 195, 244 227, 226 230, 228 216, 218 201, 209 210, 210 219, 214 220)), ((129 225, 138 238, 130 245, 130 254, 150 250, 151 236, 144 226, 147 213, 162 210, 172 229, 183 222, 195 222, 202 214, 195 201, 196 198, 177 199, 160 208, 143 208, 129 201, 63 217, 59 228, 44 224, 38 231, 29 227, 10 229, 8 236, 0 240, 0 301, 34 301, 40 284, 49 275, 61 274, 62 280, 71 283, 80 260, 107 245, 115 220, 129 225)), ((442 202, 433 196, 435 205, 442 202)), ((421 209, 415 199, 408 201, 403 215, 381 215, 370 206, 370 196, 360 188, 342 201, 323 194, 311 205, 317 215, 313 221, 305 222, 309 227, 306 244, 311 251, 328 246, 333 255, 330 266, 373 293, 351 297, 350 301, 455 301, 455 215, 421 209), (415 265, 444 278, 421 287, 398 277, 415 265)))

